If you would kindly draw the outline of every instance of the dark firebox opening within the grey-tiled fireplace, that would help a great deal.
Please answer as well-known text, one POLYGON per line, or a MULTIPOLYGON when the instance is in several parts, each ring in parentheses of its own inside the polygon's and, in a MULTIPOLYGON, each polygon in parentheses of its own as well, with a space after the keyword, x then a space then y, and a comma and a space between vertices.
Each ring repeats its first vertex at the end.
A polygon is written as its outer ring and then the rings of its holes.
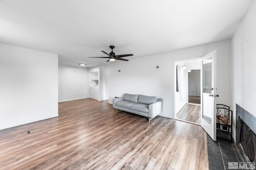
POLYGON ((240 145, 251 163, 256 162, 256 134, 240 119, 240 145))

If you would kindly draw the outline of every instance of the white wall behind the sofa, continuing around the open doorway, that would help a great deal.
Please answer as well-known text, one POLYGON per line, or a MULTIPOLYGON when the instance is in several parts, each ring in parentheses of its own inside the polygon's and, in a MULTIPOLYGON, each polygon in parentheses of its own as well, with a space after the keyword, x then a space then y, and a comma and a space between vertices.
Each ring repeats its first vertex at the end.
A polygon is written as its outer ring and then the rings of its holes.
POLYGON ((174 61, 202 57, 214 49, 217 50, 217 88, 220 95, 217 100, 231 105, 231 40, 110 63, 109 103, 124 93, 156 96, 163 99, 160 115, 174 118, 174 61), (117 71, 119 69, 120 72, 117 71))

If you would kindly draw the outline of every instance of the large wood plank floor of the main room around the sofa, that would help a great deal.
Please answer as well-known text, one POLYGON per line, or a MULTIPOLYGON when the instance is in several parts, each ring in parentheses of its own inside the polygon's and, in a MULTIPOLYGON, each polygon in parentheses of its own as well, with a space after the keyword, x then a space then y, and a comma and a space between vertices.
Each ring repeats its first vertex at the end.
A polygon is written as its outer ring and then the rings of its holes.
POLYGON ((0 130, 0 169, 204 170, 202 127, 93 99, 59 103, 59 117, 0 130), (30 134, 27 131, 30 130, 30 134))

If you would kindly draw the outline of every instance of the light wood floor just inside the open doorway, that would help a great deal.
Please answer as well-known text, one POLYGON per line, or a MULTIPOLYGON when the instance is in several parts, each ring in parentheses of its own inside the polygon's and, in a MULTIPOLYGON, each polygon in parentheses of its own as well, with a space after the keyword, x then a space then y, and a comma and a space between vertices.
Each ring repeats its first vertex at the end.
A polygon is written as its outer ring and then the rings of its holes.
POLYGON ((201 106, 186 104, 177 113, 176 118, 184 121, 189 121, 197 124, 201 124, 201 106))

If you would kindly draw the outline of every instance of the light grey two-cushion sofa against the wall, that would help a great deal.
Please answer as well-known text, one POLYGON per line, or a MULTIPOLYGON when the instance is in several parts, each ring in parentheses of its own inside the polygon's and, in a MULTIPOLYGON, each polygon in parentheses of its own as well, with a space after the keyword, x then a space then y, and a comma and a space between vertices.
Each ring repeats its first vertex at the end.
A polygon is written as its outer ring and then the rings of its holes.
POLYGON ((162 101, 153 96, 124 94, 124 97, 113 99, 113 107, 119 110, 148 117, 148 122, 162 112, 162 101))

